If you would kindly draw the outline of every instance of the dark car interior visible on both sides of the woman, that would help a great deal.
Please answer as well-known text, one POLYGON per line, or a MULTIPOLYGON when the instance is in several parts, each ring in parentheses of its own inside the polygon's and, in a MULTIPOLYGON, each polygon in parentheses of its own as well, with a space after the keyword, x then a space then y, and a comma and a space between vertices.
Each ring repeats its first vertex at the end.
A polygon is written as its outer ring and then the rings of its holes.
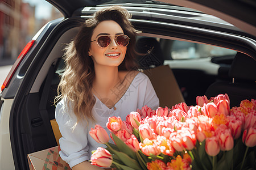
MULTIPOLYGON (((75 37, 77 31, 77 27, 71 28, 60 37, 24 101, 22 122, 24 122, 23 131, 26 133, 23 133, 22 137, 25 154, 59 144, 58 139, 61 135, 54 121, 53 101, 57 95, 60 76, 64 71, 64 61, 61 58, 64 53, 63 48, 75 37), (28 107, 31 105, 33 107, 28 107)), ((192 66, 192 63, 195 63, 194 69, 179 68, 175 65, 178 62, 185 63, 188 59, 175 59, 172 56, 175 53, 170 52, 170 49, 175 41, 187 42, 149 33, 141 33, 137 36, 139 70, 150 78, 160 99, 161 107, 170 108, 181 102, 196 105, 196 96, 205 94, 209 98, 220 93, 228 93, 232 102, 231 107, 237 105, 242 99, 255 98, 256 62, 253 58, 235 51, 220 57, 193 56, 189 59, 191 64, 188 65, 192 66), (244 65, 239 64, 240 60, 245 58, 248 59, 245 63, 246 70, 244 65), (202 70, 203 66, 200 66, 201 63, 197 59, 214 65, 213 73, 209 68, 202 70), (238 68, 240 70, 237 70, 237 67, 240 67, 238 68)), ((199 42, 194 44, 200 45, 199 42)), ((189 49, 193 52, 193 48, 188 48, 188 53, 189 49)))

